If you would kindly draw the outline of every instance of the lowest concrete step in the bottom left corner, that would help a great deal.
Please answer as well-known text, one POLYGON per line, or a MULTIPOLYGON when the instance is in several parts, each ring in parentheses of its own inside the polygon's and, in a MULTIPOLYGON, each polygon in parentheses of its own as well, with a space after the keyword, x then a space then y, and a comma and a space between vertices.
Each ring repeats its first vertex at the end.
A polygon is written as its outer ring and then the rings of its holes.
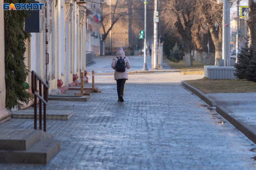
POLYGON ((0 163, 45 164, 60 149, 59 140, 40 140, 27 151, 0 151, 0 163))

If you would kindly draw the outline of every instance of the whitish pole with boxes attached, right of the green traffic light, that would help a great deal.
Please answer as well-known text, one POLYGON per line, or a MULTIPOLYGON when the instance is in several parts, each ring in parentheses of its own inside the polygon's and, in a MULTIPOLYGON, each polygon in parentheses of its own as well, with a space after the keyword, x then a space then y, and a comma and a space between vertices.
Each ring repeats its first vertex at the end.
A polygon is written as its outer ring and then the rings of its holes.
POLYGON ((154 9, 154 65, 152 69, 157 69, 158 64, 158 11, 157 11, 157 0, 155 0, 155 9, 154 9))

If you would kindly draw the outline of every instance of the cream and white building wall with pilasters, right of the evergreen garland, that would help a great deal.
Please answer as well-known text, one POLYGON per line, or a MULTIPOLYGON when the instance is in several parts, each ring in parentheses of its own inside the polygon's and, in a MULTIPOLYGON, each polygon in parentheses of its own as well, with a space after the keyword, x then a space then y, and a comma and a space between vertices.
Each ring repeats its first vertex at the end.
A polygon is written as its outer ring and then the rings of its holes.
MULTIPOLYGON (((75 0, 58 1, 56 6, 55 3, 56 1, 52 1, 50 5, 51 12, 49 8, 47 9, 50 16, 47 24, 48 33, 45 32, 45 11, 42 11, 42 32, 31 33, 31 40, 26 41, 25 53, 25 64, 29 70, 35 70, 44 81, 47 78, 49 94, 62 93, 63 87, 67 90, 70 84, 79 85, 77 81, 73 83, 73 76, 76 75, 79 79, 86 64, 85 4, 77 5, 75 0), (45 44, 45 34, 48 45, 45 44), (49 53, 48 65, 45 61, 46 48, 49 53)), ((31 75, 28 76, 27 82, 31 85, 31 75)))

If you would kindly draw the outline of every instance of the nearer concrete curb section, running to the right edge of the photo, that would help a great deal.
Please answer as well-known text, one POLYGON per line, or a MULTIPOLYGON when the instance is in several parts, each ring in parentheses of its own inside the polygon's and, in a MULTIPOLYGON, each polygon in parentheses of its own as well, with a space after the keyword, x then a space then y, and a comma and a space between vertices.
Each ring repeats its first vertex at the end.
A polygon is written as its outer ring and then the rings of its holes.
POLYGON ((248 137, 252 142, 256 143, 256 128, 245 123, 241 118, 239 118, 234 113, 225 109, 223 106, 217 106, 216 112, 225 118, 229 123, 236 127, 240 132, 242 132, 246 137, 248 137))

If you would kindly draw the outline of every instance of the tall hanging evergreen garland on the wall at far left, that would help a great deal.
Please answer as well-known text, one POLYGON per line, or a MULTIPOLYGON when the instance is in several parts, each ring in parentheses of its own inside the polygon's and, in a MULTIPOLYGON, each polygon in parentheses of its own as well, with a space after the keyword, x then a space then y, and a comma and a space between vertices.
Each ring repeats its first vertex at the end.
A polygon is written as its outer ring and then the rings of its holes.
MULTIPOLYGON (((5 3, 27 3, 27 0, 5 0, 5 3)), ((11 109, 20 105, 19 101, 28 103, 30 95, 24 87, 29 70, 24 60, 25 40, 30 33, 25 31, 26 10, 5 10, 5 107, 11 109)))

